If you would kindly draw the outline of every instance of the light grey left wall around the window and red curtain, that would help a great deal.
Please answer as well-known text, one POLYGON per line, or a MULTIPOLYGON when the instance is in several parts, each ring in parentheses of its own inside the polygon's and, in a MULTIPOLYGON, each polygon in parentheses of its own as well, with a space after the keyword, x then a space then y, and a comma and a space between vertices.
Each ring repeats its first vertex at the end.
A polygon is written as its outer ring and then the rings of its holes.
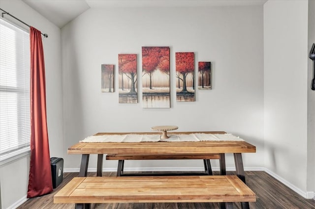
MULTIPOLYGON (((61 72, 61 31, 21 0, 1 0, 1 9, 48 34, 43 38, 46 71, 47 124, 50 155, 63 157, 63 111, 61 72)), ((8 20, 12 20, 4 15, 8 20)), ((18 23, 18 22, 17 22, 18 23)), ((19 24, 20 25, 20 24, 19 24)), ((25 25, 20 25, 27 28, 25 25)), ((14 207, 26 199, 30 156, 24 156, 0 167, 1 205, 14 207)))

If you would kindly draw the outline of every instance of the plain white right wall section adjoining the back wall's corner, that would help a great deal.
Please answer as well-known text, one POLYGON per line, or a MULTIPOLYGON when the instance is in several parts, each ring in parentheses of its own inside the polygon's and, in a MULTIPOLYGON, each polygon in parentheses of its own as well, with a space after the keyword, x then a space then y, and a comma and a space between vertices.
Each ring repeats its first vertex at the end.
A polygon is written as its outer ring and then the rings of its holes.
POLYGON ((305 193, 308 1, 267 1, 263 13, 265 167, 305 193))

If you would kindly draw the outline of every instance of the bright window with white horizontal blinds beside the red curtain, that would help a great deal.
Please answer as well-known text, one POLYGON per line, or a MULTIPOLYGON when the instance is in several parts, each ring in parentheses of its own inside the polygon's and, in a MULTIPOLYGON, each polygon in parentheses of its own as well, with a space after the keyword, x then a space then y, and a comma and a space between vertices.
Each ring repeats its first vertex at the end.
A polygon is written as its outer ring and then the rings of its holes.
POLYGON ((30 150, 29 37, 0 20, 0 161, 30 150))

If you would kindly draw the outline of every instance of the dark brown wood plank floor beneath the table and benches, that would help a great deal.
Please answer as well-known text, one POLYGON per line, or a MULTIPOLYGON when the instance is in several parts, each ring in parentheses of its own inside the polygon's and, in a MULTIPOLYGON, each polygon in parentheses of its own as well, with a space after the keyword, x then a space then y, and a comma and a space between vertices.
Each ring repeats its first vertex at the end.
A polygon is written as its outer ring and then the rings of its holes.
MULTIPOLYGON (((280 183, 264 171, 247 171, 246 183, 256 193, 256 202, 250 203, 251 209, 315 209, 315 200, 305 199, 280 183)), ((218 174, 214 172, 214 174, 218 174)), ((227 172, 234 174, 234 172, 227 172)), ((54 204, 54 194, 78 173, 64 173, 63 183, 54 192, 29 199, 18 209, 74 209, 74 204, 54 204)), ((88 176, 95 176, 89 173, 88 176)), ((104 172, 103 176, 116 176, 115 172, 104 172)), ((130 204, 93 204, 94 209, 219 209, 217 203, 130 203, 130 204)), ((234 203, 240 209, 239 203, 234 203)))

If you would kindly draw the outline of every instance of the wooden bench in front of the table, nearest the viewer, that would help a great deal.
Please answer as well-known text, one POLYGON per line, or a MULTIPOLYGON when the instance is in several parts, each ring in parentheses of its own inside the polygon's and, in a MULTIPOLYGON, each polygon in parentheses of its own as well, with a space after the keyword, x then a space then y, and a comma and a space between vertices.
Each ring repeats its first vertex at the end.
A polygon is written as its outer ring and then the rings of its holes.
POLYGON ((254 192, 237 176, 75 177, 54 203, 225 203, 255 202, 254 192))

